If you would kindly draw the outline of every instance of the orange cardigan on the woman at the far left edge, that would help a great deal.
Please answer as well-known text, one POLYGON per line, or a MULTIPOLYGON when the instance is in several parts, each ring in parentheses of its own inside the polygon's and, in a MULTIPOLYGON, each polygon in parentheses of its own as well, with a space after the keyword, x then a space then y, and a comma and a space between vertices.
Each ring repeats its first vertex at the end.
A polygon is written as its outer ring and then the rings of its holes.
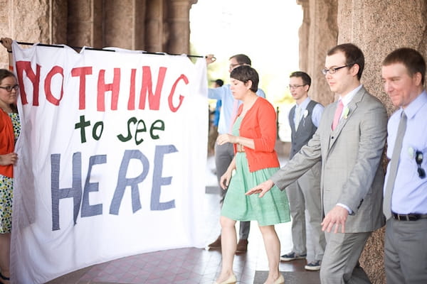
MULTIPOLYGON (((0 109, 0 155, 13 153, 14 149, 14 126, 10 116, 0 109)), ((14 165, 0 165, 0 175, 14 178, 14 165)))

